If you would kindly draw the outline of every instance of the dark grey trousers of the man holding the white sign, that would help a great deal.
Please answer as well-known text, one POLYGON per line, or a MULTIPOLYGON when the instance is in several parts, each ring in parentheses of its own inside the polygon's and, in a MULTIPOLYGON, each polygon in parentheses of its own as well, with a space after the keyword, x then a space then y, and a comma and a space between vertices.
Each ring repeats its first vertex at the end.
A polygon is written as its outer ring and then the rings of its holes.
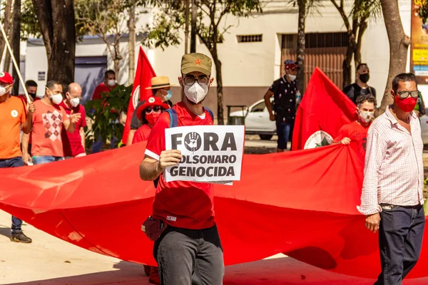
POLYGON ((217 226, 179 229, 168 226, 155 242, 162 285, 221 285, 225 267, 217 226))

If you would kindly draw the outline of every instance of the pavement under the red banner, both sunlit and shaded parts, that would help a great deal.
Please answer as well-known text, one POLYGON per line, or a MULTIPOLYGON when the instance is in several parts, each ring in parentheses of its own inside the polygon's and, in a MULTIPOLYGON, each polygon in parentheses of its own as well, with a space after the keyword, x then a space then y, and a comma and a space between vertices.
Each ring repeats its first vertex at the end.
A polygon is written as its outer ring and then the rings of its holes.
MULTIPOLYGON (((147 285, 143 266, 89 252, 24 224, 32 244, 10 242, 11 217, 0 210, 0 284, 147 285)), ((226 267, 225 285, 366 285, 370 279, 332 274, 279 254, 226 267)), ((407 285, 428 284, 427 279, 407 285)))

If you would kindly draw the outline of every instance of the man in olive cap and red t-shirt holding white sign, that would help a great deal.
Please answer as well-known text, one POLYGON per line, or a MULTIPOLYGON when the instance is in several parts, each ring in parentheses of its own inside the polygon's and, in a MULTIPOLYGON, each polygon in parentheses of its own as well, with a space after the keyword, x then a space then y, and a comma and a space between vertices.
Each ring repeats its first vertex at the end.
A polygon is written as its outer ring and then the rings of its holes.
POLYGON ((180 150, 165 149, 165 130, 176 126, 213 125, 213 113, 203 107, 208 94, 212 61, 202 53, 185 54, 181 60, 183 100, 163 113, 148 138, 140 166, 143 180, 159 177, 153 215, 143 225, 155 240, 161 284, 223 284, 223 249, 214 220, 213 186, 190 181, 165 182, 166 167, 178 165, 180 150), (170 109, 171 110, 171 109, 170 109))

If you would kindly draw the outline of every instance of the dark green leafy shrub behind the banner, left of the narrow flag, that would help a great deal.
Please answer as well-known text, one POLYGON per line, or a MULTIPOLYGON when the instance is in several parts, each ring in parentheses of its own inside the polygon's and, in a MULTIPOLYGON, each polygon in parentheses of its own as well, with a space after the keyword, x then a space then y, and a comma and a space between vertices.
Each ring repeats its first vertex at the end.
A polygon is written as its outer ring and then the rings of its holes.
POLYGON ((87 116, 93 121, 92 128, 86 130, 88 147, 91 147, 94 138, 100 136, 104 145, 113 137, 122 138, 124 127, 118 123, 118 118, 128 110, 132 87, 118 85, 110 93, 102 93, 100 100, 90 100, 85 104, 87 116), (94 110, 94 113, 89 110, 94 110))

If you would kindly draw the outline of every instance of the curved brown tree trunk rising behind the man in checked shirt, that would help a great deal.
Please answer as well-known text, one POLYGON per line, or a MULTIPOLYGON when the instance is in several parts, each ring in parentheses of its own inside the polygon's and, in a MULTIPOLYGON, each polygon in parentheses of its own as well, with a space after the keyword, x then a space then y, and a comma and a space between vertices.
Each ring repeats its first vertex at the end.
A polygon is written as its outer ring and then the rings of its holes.
POLYGON ((406 72, 407 50, 410 45, 410 37, 404 33, 401 18, 399 16, 398 0, 380 0, 385 26, 389 40, 389 71, 387 86, 384 90, 379 115, 392 103, 391 88, 392 79, 399 73, 406 72))

